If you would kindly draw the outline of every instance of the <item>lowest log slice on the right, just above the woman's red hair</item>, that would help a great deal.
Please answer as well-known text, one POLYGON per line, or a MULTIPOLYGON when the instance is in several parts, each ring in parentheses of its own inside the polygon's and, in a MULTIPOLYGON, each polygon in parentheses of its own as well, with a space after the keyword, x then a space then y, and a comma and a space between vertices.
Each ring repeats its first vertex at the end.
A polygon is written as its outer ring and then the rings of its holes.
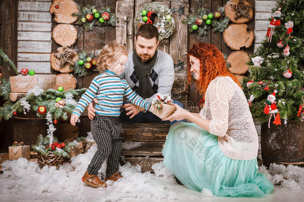
POLYGON ((229 71, 233 74, 244 74, 248 71, 249 65, 246 64, 250 60, 249 55, 244 51, 234 51, 227 57, 227 61, 231 64, 229 71))

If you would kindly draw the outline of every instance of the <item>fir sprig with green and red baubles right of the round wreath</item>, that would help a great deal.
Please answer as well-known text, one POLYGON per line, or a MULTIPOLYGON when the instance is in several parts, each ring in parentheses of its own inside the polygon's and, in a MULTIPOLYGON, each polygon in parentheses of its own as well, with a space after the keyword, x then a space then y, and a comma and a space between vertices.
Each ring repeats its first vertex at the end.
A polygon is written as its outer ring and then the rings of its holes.
POLYGON ((199 36, 205 35, 211 27, 213 27, 213 31, 223 32, 230 20, 224 13, 224 7, 218 7, 214 13, 208 13, 205 8, 200 8, 195 13, 188 13, 187 19, 182 23, 188 24, 189 31, 197 31, 199 36))

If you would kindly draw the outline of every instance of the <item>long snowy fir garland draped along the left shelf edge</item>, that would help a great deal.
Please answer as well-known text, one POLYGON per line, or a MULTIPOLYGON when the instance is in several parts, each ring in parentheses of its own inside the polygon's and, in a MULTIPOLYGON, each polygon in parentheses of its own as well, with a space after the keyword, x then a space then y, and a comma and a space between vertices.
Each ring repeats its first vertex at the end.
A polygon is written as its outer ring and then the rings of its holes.
POLYGON ((28 103, 30 105, 30 108, 36 112, 37 117, 46 118, 47 113, 41 115, 37 112, 38 107, 40 105, 43 105, 46 107, 47 112, 50 112, 53 119, 62 118, 66 120, 68 118, 67 113, 72 113, 75 105, 66 103, 63 108, 56 107, 56 98, 60 97, 62 99, 65 99, 67 98, 66 95, 69 93, 69 95, 73 95, 73 98, 71 99, 77 103, 76 99, 79 99, 81 95, 86 91, 86 88, 62 92, 56 91, 54 89, 48 89, 38 96, 34 95, 34 93, 30 93, 26 97, 21 98, 17 102, 13 103, 9 100, 10 89, 7 89, 7 86, 9 86, 9 81, 4 80, 5 82, 3 82, 3 80, 0 86, 0 95, 5 94, 7 96, 5 96, 6 102, 2 107, 0 107, 0 117, 3 117, 5 120, 10 119, 13 116, 14 112, 23 112, 24 107, 22 104, 24 103, 28 103))

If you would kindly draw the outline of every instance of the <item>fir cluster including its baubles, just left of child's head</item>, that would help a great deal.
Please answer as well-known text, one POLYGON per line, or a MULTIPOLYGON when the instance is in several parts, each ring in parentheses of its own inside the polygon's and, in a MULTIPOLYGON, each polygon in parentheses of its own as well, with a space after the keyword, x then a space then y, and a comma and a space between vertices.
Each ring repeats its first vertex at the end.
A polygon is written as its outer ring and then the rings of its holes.
POLYGON ((94 51, 83 50, 79 53, 79 60, 75 62, 74 66, 70 68, 74 70, 74 73, 79 77, 86 76, 92 71, 92 67, 96 65, 96 58, 94 58, 94 51))

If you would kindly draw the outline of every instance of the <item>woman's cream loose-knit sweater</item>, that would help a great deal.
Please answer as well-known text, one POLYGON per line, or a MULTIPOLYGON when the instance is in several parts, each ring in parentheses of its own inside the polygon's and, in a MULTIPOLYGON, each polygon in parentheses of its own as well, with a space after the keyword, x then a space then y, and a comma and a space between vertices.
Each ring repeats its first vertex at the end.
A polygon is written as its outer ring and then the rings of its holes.
POLYGON ((218 138, 223 154, 236 160, 258 156, 258 134, 242 89, 230 78, 216 77, 205 93, 205 105, 199 113, 210 120, 209 132, 218 138))

